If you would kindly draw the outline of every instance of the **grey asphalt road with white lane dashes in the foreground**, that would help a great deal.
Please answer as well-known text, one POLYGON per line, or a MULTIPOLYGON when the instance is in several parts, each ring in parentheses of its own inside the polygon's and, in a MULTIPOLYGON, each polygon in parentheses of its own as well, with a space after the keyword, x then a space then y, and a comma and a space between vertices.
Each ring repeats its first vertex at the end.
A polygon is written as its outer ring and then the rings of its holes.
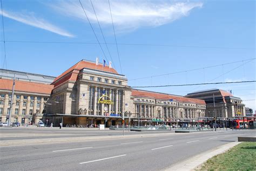
POLYGON ((0 168, 1 170, 161 170, 193 155, 237 141, 238 136, 255 136, 255 131, 167 135, 160 133, 157 137, 142 136, 127 139, 113 137, 109 140, 6 146, 0 147, 0 168))

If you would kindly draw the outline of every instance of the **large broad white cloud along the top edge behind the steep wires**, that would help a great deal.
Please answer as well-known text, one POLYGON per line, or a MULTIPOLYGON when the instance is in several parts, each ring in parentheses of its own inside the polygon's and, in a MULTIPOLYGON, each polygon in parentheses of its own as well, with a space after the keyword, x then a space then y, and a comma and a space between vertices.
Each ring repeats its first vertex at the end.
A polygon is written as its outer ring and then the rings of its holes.
MULTIPOLYGON (((112 26, 108 1, 92 1, 100 24, 112 26)), ((82 1, 90 22, 96 23, 90 0, 82 1)), ((111 12, 114 26, 118 31, 131 31, 139 27, 156 27, 171 23, 181 17, 188 16, 194 8, 201 8, 200 2, 170 2, 170 1, 116 1, 111 0, 111 12)), ((49 3, 56 11, 66 16, 87 19, 79 4, 75 1, 58 1, 49 3)))

